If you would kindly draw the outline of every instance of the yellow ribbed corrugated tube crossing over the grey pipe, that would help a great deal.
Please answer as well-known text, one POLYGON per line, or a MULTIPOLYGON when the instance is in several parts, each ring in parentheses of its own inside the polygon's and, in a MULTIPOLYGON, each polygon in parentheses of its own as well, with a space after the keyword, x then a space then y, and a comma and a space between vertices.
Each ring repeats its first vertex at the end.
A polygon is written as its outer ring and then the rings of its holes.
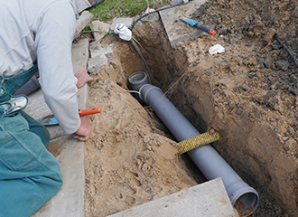
POLYGON ((183 140, 182 142, 178 143, 179 154, 183 154, 185 152, 191 151, 194 148, 205 146, 207 144, 210 144, 212 142, 219 140, 219 133, 217 132, 206 132, 203 134, 200 134, 196 137, 191 137, 188 139, 183 140))

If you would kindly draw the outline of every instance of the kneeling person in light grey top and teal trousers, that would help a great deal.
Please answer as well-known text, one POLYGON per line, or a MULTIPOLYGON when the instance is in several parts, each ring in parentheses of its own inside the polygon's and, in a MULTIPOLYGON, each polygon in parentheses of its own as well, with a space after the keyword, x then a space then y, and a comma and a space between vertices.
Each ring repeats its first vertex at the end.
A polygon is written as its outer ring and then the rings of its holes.
MULTIPOLYGON (((96 1, 100 3, 102 1, 96 1)), ((79 118, 76 93, 91 78, 73 75, 76 19, 92 0, 0 0, 0 217, 30 216, 61 188, 58 161, 46 149, 48 130, 13 96, 36 71, 44 99, 66 134, 86 141, 92 126, 79 118)))

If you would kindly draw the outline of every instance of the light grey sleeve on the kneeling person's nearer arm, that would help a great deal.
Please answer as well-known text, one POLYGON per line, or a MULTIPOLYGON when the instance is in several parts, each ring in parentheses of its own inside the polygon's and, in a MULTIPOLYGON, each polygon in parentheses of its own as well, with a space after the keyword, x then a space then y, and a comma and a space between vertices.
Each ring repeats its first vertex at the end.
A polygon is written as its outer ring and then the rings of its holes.
POLYGON ((73 75, 71 45, 76 28, 72 6, 57 1, 40 15, 35 46, 45 102, 66 134, 80 126, 77 78, 73 75))

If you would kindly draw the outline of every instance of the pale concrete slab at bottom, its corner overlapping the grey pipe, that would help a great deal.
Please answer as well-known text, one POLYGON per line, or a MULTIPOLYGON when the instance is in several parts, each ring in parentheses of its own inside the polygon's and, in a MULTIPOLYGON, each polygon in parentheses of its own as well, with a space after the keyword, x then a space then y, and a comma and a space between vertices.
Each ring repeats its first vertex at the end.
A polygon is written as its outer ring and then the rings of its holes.
POLYGON ((135 206, 109 217, 236 217, 228 194, 217 178, 179 193, 135 206))

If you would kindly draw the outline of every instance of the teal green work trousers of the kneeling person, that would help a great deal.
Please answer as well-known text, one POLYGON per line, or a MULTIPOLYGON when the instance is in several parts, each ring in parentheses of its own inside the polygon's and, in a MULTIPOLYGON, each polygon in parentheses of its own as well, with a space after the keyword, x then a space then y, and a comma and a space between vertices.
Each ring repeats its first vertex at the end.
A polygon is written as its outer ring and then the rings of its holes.
MULTIPOLYGON (((16 82, 22 86, 31 75, 22 72, 16 82)), ((29 217, 60 190, 62 175, 46 149, 47 128, 22 110, 4 113, 1 104, 17 90, 13 78, 5 80, 0 94, 0 217, 29 217)))

